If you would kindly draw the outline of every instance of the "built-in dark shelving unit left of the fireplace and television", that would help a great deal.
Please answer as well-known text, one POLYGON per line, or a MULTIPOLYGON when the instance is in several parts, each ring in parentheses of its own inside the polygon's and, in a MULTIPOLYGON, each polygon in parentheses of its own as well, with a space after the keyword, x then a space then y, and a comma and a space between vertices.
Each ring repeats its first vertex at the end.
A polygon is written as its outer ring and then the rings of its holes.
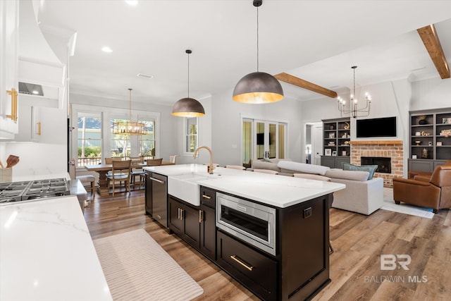
POLYGON ((323 120, 321 165, 341 168, 341 162, 350 163, 350 124, 350 118, 323 120))

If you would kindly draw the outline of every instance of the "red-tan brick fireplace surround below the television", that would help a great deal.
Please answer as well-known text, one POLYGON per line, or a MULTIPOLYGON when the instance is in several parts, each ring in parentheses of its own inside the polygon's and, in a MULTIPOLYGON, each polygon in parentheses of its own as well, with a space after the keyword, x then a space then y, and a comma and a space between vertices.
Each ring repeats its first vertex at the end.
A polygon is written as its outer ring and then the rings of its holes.
POLYGON ((383 186, 393 188, 393 178, 403 175, 403 147, 400 140, 372 140, 350 141, 351 164, 361 165, 361 157, 390 158, 390 173, 374 173, 374 176, 383 178, 383 186))

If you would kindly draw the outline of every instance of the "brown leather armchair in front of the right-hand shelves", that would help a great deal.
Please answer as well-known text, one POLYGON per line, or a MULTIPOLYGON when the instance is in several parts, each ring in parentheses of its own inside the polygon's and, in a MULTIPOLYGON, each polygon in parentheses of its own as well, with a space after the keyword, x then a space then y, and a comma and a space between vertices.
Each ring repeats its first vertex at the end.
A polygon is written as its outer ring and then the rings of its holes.
POLYGON ((438 209, 451 208, 451 166, 437 166, 428 182, 393 178, 393 199, 396 204, 404 202, 432 208, 434 213, 438 213, 438 209))

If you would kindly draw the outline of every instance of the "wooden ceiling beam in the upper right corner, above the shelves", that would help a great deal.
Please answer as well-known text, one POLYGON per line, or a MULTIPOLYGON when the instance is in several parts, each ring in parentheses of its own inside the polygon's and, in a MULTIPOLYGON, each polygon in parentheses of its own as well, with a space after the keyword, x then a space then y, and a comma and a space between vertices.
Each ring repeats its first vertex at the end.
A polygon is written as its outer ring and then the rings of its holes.
POLYGON ((433 24, 421 27, 416 30, 423 40, 424 47, 428 50, 429 56, 440 74, 440 77, 450 78, 450 68, 448 67, 445 54, 443 54, 442 45, 438 39, 437 32, 433 24))

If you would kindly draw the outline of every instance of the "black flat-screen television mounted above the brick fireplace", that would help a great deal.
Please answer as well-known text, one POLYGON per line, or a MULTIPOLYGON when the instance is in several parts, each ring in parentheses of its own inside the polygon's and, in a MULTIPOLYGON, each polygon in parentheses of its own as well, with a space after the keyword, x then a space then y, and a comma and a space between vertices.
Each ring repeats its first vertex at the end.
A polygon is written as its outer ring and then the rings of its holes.
POLYGON ((396 116, 372 119, 357 119, 356 137, 397 137, 396 116))

